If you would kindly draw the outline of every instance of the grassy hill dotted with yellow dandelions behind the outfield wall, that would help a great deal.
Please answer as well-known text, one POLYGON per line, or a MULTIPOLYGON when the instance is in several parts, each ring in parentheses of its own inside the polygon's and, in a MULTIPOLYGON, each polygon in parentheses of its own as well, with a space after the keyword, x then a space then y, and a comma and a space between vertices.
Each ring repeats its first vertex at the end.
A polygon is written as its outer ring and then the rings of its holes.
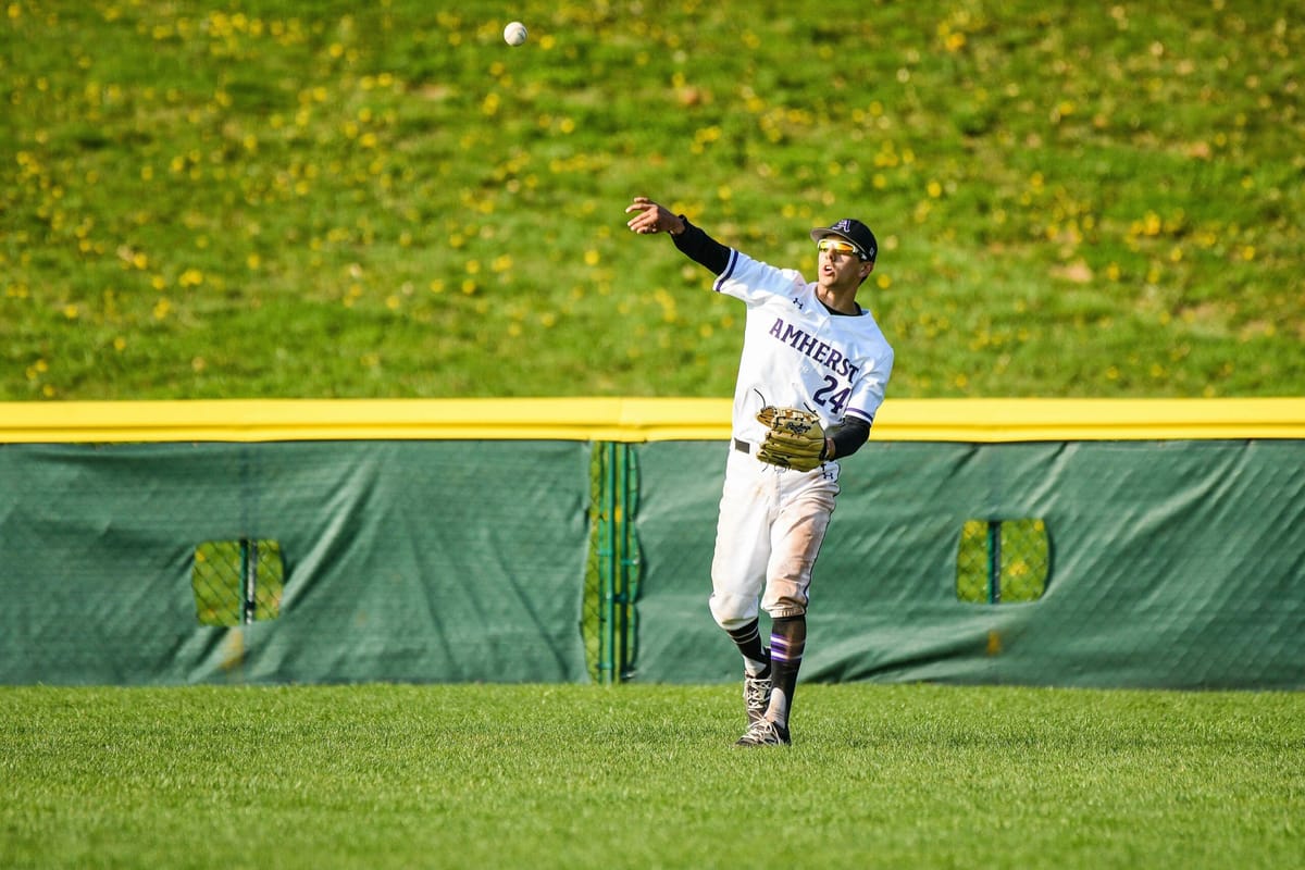
POLYGON ((727 395, 636 193, 869 223, 890 397, 1298 395, 1305 23, 1172 5, 9 0, 0 399, 727 395))

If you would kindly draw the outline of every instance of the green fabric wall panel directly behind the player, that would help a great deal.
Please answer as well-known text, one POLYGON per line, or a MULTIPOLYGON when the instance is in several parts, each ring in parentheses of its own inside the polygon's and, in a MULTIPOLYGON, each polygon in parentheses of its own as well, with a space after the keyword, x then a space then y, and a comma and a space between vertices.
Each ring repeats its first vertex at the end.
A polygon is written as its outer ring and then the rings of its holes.
MULTIPOLYGON (((724 459, 638 449, 637 681, 741 673, 706 604, 724 459)), ((872 441, 842 487, 803 680, 1305 687, 1305 442, 872 441), (1045 593, 960 601, 962 526, 1015 518, 1045 522, 1045 593)))

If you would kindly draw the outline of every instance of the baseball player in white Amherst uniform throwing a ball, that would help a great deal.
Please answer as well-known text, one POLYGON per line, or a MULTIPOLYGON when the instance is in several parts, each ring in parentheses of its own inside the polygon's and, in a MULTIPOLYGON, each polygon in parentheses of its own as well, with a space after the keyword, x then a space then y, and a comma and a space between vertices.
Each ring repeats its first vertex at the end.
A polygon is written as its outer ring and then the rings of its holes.
POLYGON ((737 743, 787 746, 812 566, 839 492, 838 459, 865 443, 893 370, 893 348, 856 301, 878 243, 860 220, 812 230, 818 274, 808 282, 720 244, 646 197, 625 211, 634 214, 632 231, 669 235, 716 277, 716 292, 748 307, 710 608, 743 653, 748 729, 737 743), (770 617, 769 647, 761 610, 770 617))

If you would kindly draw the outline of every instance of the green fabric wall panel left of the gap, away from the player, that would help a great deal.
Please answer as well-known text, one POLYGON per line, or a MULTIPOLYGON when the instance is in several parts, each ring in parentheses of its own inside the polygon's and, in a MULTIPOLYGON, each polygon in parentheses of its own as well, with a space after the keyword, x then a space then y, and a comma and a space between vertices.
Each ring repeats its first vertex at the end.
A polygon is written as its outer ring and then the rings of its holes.
POLYGON ((587 681, 583 442, 0 445, 0 682, 587 681), (196 548, 274 540, 277 618, 196 548))

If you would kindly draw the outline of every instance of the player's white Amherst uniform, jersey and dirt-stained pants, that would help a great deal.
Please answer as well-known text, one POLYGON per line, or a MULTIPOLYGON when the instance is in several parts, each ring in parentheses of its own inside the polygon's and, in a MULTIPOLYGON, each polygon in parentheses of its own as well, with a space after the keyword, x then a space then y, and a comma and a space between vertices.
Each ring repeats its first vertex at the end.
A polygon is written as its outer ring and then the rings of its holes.
POLYGON ((711 614, 723 629, 806 612, 812 566, 838 496, 837 462, 808 472, 756 458, 763 406, 806 408, 826 432, 844 416, 874 419, 893 370, 893 348, 869 312, 831 314, 817 284, 731 250, 718 292, 748 307, 733 398, 733 443, 711 563, 711 614), (765 597, 762 597, 765 593, 765 597))

